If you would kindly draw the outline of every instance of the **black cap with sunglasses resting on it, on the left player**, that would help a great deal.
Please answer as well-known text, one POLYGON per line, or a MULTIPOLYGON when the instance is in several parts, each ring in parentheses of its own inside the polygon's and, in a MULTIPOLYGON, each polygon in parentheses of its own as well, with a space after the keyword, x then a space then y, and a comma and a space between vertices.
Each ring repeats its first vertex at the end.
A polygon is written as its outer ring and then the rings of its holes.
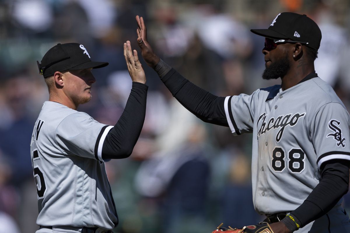
POLYGON ((41 63, 36 62, 44 78, 54 75, 56 71, 101 68, 108 65, 108 62, 91 61, 84 45, 78 43, 57 44, 45 53, 41 63))

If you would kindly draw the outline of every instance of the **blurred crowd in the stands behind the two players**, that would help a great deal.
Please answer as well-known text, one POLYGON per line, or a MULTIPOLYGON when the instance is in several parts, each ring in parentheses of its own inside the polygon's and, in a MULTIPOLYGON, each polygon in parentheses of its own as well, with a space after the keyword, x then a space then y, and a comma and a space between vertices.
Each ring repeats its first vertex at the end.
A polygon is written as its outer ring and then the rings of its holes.
MULTIPOLYGON (((135 15, 163 60, 228 96, 280 83, 262 80, 264 38, 249 30, 285 11, 321 28, 316 72, 350 109, 349 0, 0 0, 0 233, 38 228, 29 144, 48 100, 36 60, 49 48, 78 42, 91 59, 110 63, 92 71, 93 98, 78 110, 114 125, 131 89, 123 43, 138 50, 135 15)), ((143 67, 149 92, 140 139, 130 158, 106 163, 120 218, 114 231, 203 233, 264 219, 252 205, 251 135, 200 122, 143 67)), ((350 209, 349 194, 344 205, 350 209)))

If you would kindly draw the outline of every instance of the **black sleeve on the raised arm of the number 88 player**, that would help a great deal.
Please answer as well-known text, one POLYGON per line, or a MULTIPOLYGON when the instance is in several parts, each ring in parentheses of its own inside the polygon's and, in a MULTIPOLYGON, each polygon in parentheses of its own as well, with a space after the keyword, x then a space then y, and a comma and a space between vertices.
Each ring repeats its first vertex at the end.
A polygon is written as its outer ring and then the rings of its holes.
POLYGON ((225 97, 212 95, 197 87, 162 60, 155 71, 173 96, 195 116, 204 122, 229 126, 224 109, 225 97))

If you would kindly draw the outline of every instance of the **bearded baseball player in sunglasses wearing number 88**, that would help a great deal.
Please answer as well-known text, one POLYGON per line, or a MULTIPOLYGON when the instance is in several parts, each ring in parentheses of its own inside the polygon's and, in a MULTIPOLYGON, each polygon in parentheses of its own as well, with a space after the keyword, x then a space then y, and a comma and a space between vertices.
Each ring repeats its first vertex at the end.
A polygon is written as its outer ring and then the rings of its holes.
POLYGON ((349 185, 350 118, 314 70, 321 31, 313 20, 284 12, 268 29, 252 29, 265 37, 262 78, 281 78, 281 85, 227 97, 195 86, 162 61, 147 42, 144 20, 136 20, 142 57, 184 107, 234 135, 253 134, 253 204, 270 225, 244 232, 350 232, 341 206, 349 185))

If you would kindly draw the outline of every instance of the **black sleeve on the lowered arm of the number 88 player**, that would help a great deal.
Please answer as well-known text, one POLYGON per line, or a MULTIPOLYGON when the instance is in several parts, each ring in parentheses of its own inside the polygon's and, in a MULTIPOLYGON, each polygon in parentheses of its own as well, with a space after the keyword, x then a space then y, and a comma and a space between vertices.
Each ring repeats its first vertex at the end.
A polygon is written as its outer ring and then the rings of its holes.
MULTIPOLYGON (((290 215, 303 227, 326 214, 348 192, 350 161, 329 160, 321 169, 321 180, 306 200, 290 215)), ((282 220, 292 232, 296 224, 288 217, 282 220), (290 227, 293 227, 291 229, 290 227)))

